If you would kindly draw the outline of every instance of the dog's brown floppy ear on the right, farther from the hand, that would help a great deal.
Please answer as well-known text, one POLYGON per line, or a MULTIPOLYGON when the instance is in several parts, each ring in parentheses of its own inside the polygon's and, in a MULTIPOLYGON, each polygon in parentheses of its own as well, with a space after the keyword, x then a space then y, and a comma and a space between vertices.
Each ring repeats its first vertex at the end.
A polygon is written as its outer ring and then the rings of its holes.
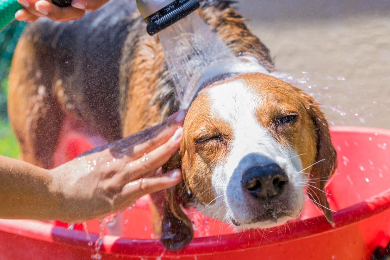
POLYGON ((314 122, 317 133, 316 164, 314 164, 310 170, 310 176, 313 178, 312 181, 315 182, 314 186, 316 186, 317 189, 310 189, 310 191, 308 191, 308 196, 319 205, 322 205, 320 208, 324 211, 326 219, 328 219, 329 223, 334 225, 332 210, 330 210, 328 201, 326 200, 324 187, 326 180, 328 180, 337 168, 336 150, 330 139, 328 122, 321 112, 319 104, 307 94, 304 94, 303 92, 300 94, 306 102, 306 108, 314 122))

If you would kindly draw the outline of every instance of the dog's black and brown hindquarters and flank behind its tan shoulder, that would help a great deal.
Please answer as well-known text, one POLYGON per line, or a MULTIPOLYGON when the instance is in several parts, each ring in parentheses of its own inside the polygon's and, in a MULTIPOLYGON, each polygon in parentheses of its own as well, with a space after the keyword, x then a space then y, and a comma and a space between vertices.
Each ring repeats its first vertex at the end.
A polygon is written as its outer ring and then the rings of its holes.
POLYGON ((25 160, 52 166, 67 114, 108 141, 122 136, 119 70, 124 42, 140 21, 136 8, 134 1, 113 0, 78 21, 39 19, 25 29, 9 90, 9 115, 25 160))

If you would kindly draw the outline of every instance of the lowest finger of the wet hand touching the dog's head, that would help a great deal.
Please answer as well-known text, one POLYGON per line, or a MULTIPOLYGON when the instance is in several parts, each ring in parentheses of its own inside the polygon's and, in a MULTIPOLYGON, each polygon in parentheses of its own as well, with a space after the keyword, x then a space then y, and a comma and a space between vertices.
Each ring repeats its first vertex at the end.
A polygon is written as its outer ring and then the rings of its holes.
POLYGON ((151 177, 146 179, 138 179, 133 182, 126 184, 122 193, 118 198, 118 201, 115 202, 117 205, 126 203, 133 203, 138 198, 156 191, 163 189, 168 189, 181 181, 181 171, 173 170, 165 175, 160 177, 151 177))

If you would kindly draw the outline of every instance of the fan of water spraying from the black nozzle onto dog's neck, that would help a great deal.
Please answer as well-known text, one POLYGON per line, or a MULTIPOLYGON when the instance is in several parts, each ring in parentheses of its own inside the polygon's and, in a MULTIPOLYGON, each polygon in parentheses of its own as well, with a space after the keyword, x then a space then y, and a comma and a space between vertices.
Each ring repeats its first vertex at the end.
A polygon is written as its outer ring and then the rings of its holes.
POLYGON ((239 63, 196 12, 161 31, 158 37, 182 108, 190 105, 207 71, 228 73, 232 64, 239 63))

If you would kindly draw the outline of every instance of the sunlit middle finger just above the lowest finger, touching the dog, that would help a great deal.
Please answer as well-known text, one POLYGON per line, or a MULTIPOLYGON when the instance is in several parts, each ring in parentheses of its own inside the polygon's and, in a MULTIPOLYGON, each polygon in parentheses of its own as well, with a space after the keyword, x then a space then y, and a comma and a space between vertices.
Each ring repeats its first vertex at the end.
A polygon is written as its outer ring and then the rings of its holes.
POLYGON ((130 180, 141 178, 147 173, 156 172, 179 149, 182 137, 183 129, 179 128, 166 143, 152 150, 143 158, 127 163, 122 170, 122 174, 119 175, 122 185, 130 180))

